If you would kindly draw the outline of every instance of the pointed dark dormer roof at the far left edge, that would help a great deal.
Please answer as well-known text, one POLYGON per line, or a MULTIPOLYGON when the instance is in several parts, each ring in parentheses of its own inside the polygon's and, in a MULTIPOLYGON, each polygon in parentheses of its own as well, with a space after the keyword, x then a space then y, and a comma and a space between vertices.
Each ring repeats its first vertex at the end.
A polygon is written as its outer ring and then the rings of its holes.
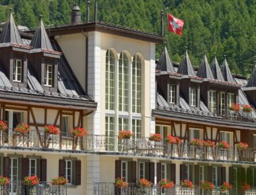
POLYGON ((18 32, 18 28, 15 25, 12 13, 10 11, 9 18, 7 22, 5 22, 5 26, 0 36, 0 44, 3 43, 13 43, 13 44, 22 44, 22 38, 18 32))

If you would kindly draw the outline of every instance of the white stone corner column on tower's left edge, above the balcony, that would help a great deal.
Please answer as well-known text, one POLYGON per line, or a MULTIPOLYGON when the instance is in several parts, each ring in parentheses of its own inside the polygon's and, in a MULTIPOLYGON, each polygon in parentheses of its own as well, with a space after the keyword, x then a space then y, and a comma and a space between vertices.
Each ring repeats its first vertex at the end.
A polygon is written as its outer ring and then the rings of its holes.
POLYGON ((88 33, 88 95, 98 103, 97 110, 88 116, 88 132, 100 134, 100 32, 88 33))

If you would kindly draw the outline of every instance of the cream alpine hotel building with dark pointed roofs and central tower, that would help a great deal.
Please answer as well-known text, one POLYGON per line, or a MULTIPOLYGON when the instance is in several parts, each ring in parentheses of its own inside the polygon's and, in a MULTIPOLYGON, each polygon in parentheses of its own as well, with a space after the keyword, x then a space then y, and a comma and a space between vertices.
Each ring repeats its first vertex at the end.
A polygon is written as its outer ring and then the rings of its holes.
POLYGON ((203 181, 228 182, 234 194, 245 182, 256 186, 255 69, 247 81, 232 75, 226 59, 209 65, 204 54, 195 71, 187 52, 173 65, 166 48, 156 62, 162 36, 72 18, 49 30, 40 19, 36 31, 19 32, 10 13, 1 30, 1 120, 8 128, 1 130, 0 172, 11 181, 9 194, 26 193, 22 180, 34 175, 41 182, 64 176, 67 194, 134 194, 141 178, 155 184, 151 194, 165 193, 156 185, 162 179, 177 194, 184 180, 195 184, 192 194, 203 181), (15 131, 20 123, 28 134, 15 131), (61 134, 45 134, 46 125, 61 134), (76 139, 70 130, 77 127, 88 134, 76 139), (119 139, 121 130, 131 130, 131 139, 119 139), (241 142, 249 147, 237 147, 241 142), (130 187, 115 188, 115 178, 130 187))

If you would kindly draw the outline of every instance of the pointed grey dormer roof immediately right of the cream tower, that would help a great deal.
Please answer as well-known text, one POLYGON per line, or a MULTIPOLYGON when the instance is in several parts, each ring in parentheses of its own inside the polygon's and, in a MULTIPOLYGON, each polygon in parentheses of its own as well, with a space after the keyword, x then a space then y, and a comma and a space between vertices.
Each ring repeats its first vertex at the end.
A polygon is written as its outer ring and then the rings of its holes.
POLYGON ((158 64, 156 65, 156 70, 161 71, 162 73, 175 73, 174 67, 172 65, 172 62, 170 61, 170 57, 168 54, 168 50, 166 46, 162 50, 162 54, 160 56, 160 59, 158 61, 158 64))

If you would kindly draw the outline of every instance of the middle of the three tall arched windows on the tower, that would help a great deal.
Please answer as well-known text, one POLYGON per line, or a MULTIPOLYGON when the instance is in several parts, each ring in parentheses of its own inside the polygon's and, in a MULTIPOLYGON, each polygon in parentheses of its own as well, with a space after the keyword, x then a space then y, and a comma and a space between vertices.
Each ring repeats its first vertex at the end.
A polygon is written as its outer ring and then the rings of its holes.
POLYGON ((119 58, 119 111, 128 112, 128 77, 129 62, 127 55, 121 52, 119 58))

